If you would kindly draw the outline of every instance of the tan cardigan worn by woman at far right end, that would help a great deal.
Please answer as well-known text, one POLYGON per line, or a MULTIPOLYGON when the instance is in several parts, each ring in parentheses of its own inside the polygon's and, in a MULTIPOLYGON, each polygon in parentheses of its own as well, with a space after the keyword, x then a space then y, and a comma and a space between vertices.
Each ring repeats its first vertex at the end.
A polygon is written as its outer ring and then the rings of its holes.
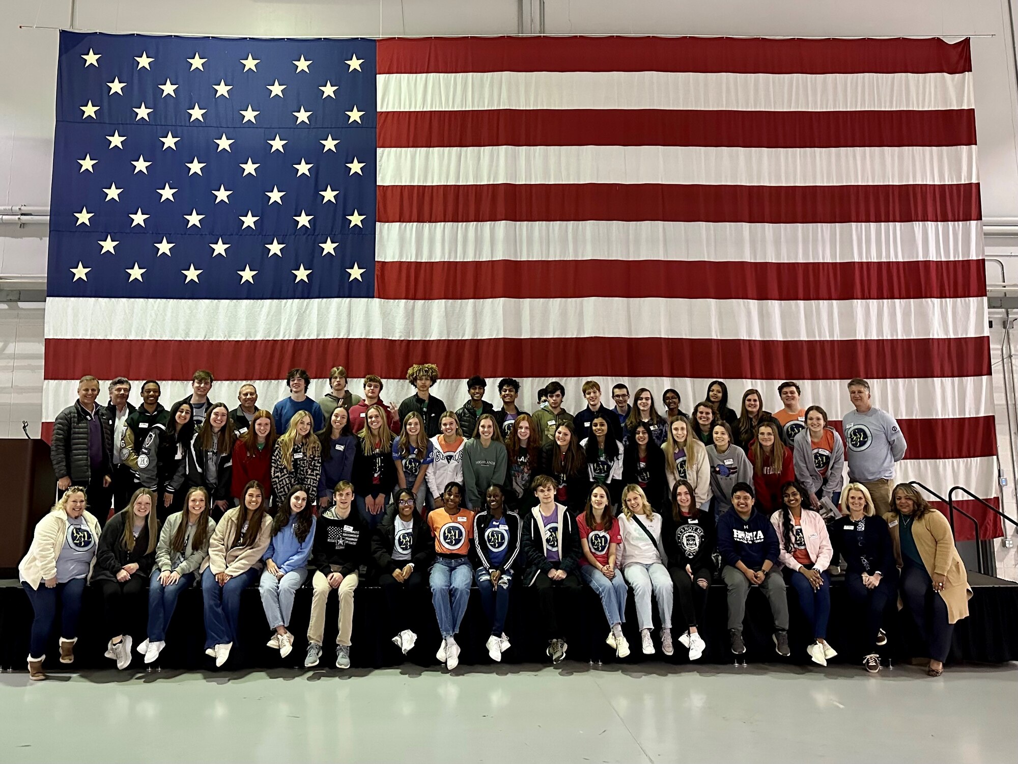
MULTIPOLYGON (((898 561, 898 567, 901 567, 900 519, 897 512, 891 511, 884 515, 884 520, 891 529, 894 556, 898 561)), ((961 555, 955 548, 954 534, 951 533, 948 519, 937 509, 926 512, 912 523, 912 539, 929 578, 932 578, 934 574, 945 577, 941 596, 948 606, 948 623, 956 623, 967 617, 968 600, 972 596, 972 589, 968 585, 968 574, 965 572, 961 555)))

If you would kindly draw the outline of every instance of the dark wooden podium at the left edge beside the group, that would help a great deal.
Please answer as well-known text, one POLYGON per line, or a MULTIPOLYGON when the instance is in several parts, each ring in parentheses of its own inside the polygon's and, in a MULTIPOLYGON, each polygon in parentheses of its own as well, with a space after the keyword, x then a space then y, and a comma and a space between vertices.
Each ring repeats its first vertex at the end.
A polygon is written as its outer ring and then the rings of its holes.
POLYGON ((56 501, 56 475, 44 440, 0 438, 0 576, 16 576, 32 533, 56 501))

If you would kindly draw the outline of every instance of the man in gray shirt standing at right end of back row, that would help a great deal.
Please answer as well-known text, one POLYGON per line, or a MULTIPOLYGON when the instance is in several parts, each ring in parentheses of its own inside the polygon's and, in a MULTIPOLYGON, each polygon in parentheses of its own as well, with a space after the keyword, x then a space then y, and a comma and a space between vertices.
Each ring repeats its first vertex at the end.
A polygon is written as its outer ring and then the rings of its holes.
POLYGON ((908 443, 895 418, 870 402, 866 380, 850 381, 848 397, 855 406, 841 421, 848 446, 848 478, 866 487, 876 513, 884 516, 891 511, 894 465, 904 458, 908 443))

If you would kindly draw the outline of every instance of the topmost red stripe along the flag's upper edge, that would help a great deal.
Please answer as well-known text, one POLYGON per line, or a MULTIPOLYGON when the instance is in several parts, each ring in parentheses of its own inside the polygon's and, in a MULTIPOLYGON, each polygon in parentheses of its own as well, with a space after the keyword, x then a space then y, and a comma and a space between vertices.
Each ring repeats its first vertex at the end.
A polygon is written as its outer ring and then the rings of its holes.
POLYGON ((699 71, 854 74, 971 71, 968 40, 555 37, 380 40, 379 74, 699 71))

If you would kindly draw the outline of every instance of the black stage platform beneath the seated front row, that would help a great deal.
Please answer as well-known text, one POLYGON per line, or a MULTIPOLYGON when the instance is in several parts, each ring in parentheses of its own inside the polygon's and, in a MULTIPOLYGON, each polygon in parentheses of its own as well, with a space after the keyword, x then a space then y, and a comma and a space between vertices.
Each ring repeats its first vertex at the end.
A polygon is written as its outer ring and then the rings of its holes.
MULTIPOLYGON (((972 571, 969 571, 968 576, 975 595, 969 601, 969 617, 960 621, 955 629, 950 661, 1003 663, 1018 660, 1018 584, 972 571)), ((506 625, 506 633, 513 647, 503 655, 503 662, 547 662, 549 660, 545 654, 547 643, 541 629, 534 592, 518 584, 517 581, 513 587, 506 625)), ((840 577, 835 578, 831 594, 832 612, 828 640, 840 652, 839 657, 832 662, 856 663, 861 659, 861 651, 856 637, 855 619, 850 611, 850 604, 840 577)), ((243 636, 239 644, 234 645, 230 660, 224 668, 302 666, 307 646, 305 633, 310 611, 310 595, 309 584, 297 593, 290 623, 290 631, 297 639, 293 652, 284 661, 280 659, 278 651, 266 647, 265 643, 271 633, 265 619, 258 589, 252 587, 245 591, 240 617, 240 631, 243 636)), ((808 663, 802 614, 791 589, 788 590, 788 596, 791 612, 790 660, 796 663, 808 663)), ((407 661, 419 666, 437 666, 435 651, 438 649, 440 637, 434 610, 428 598, 419 604, 417 647, 404 658, 390 642, 393 635, 388 634, 386 626, 386 604, 381 589, 371 586, 358 588, 354 599, 353 645, 350 651, 353 666, 381 668, 407 661)), ((568 603, 561 602, 561 606, 568 608, 568 603)), ((336 639, 337 607, 335 597, 330 597, 326 614, 326 651, 322 666, 333 665, 334 654, 331 646, 335 644, 336 639)), ((605 663, 616 661, 614 651, 605 644, 608 625, 601 604, 590 589, 584 587, 580 591, 574 612, 567 617, 570 625, 567 660, 601 660, 605 663)), ((89 587, 86 590, 80 635, 75 649, 77 660, 73 668, 112 667, 113 662, 103 657, 106 645, 101 633, 102 618, 100 594, 89 587)), ((136 627, 131 632, 135 645, 145 639, 146 618, 145 607, 138 608, 136 627)), ((677 637, 684 631, 677 625, 681 621, 681 612, 677 604, 673 619, 676 624, 673 633, 677 637)), ((699 662, 731 662, 733 656, 728 649, 728 635, 725 629, 725 588, 721 584, 715 584, 711 588, 706 620, 708 623, 701 627, 701 633, 708 643, 708 652, 699 662)), ((32 606, 21 585, 12 579, 0 580, 0 668, 25 669, 31 622, 32 606)), ((770 624, 770 610, 766 600, 759 593, 751 592, 744 632, 748 648, 746 658, 749 662, 780 660, 771 641, 770 624)), ((624 629, 632 649, 632 655, 624 662, 638 663, 645 660, 687 662, 686 651, 677 642, 676 655, 672 658, 665 657, 660 651, 660 646, 655 656, 643 656, 640 653, 636 613, 631 595, 624 629)), ((920 652, 914 648, 916 640, 912 634, 913 629, 902 612, 893 610, 889 612, 885 629, 889 636, 889 643, 884 648, 887 651, 886 657, 906 660, 920 652)), ((460 657, 462 665, 491 662, 484 647, 488 635, 488 623, 480 601, 476 592, 473 592, 457 640, 462 648, 460 657)), ((59 655, 57 636, 53 635, 52 645, 47 650, 46 666, 53 670, 64 668, 57 660, 59 655)), ((656 644, 657 636, 656 632, 656 644)), ((205 655, 204 643, 202 593, 201 589, 192 588, 182 593, 180 597, 167 633, 166 648, 155 665, 171 669, 210 668, 214 663, 205 655)), ((145 667, 142 656, 136 652, 131 667, 134 669, 145 667)))

